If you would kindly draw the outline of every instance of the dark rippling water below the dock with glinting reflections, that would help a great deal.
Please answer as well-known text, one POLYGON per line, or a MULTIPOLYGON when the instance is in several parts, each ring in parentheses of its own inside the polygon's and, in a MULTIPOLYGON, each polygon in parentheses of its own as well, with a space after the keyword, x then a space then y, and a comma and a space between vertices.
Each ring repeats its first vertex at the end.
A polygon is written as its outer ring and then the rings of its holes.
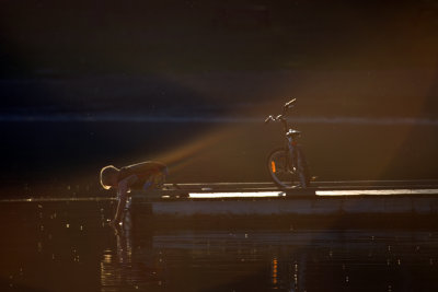
POLYGON ((105 224, 111 200, 1 202, 1 291, 437 291, 436 230, 105 224))

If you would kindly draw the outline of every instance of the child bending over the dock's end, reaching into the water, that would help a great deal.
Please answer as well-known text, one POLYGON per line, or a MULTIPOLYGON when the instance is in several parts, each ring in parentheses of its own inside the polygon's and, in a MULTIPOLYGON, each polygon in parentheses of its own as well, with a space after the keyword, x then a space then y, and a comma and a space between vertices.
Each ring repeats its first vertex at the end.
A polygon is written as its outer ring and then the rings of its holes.
POLYGON ((142 162, 116 168, 113 165, 101 170, 101 185, 104 189, 117 190, 117 211, 111 224, 120 224, 126 199, 130 189, 161 188, 168 176, 168 166, 161 162, 142 162))

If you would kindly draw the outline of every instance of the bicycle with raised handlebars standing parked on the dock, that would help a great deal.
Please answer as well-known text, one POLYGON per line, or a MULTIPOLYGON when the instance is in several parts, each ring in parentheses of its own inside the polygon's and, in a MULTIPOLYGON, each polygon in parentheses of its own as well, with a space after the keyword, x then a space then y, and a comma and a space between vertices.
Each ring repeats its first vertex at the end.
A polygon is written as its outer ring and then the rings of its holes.
POLYGON ((274 183, 280 188, 302 187, 310 183, 309 167, 304 154, 298 145, 300 131, 289 128, 286 119, 287 112, 293 107, 296 100, 291 100, 283 107, 283 114, 276 117, 268 116, 265 124, 280 121, 285 132, 285 145, 274 149, 267 157, 267 168, 274 183))

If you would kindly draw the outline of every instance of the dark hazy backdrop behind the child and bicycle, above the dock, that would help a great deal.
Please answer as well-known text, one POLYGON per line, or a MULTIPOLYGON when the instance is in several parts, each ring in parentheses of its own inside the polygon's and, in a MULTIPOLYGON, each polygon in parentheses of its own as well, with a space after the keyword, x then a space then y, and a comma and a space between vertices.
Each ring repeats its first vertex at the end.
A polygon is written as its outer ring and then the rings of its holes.
POLYGON ((267 180, 290 96, 312 173, 437 178, 438 1, 7 1, 1 195, 99 190, 159 159, 170 182, 267 180))

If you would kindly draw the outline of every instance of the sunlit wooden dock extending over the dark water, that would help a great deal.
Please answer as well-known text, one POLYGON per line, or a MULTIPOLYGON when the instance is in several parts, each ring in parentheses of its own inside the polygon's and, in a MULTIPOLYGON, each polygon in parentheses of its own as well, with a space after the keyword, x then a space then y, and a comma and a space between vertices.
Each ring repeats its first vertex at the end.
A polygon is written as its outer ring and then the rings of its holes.
POLYGON ((132 194, 132 210, 153 217, 438 215, 438 182, 325 182, 279 189, 272 183, 166 185, 132 194))

